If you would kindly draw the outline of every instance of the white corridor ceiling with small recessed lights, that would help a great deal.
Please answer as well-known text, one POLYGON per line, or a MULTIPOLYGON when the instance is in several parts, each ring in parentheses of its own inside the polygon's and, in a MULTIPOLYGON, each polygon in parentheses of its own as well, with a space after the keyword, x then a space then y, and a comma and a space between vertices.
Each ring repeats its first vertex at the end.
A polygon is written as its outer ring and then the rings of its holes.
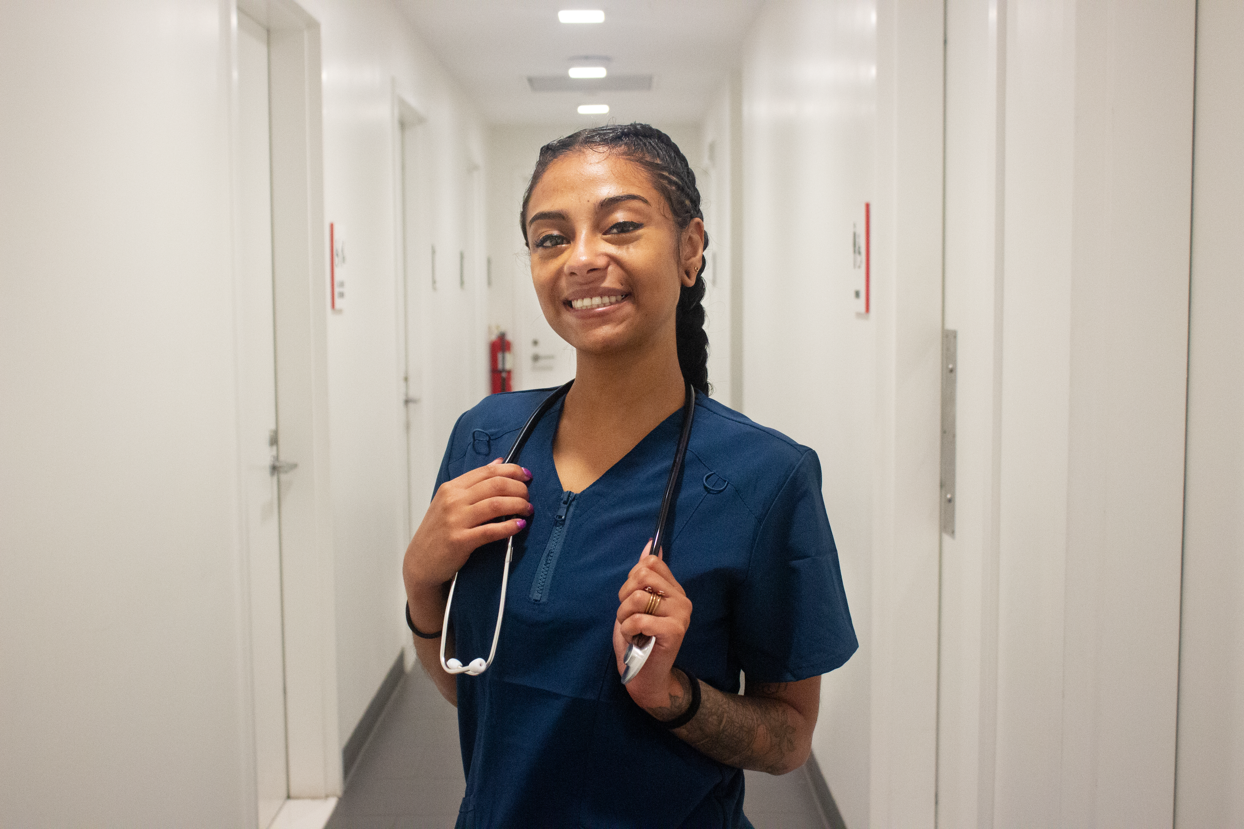
POLYGON ((739 62, 764 0, 397 0, 493 124, 693 123, 739 62), (561 24, 561 9, 601 9, 603 24, 561 24), (610 77, 652 75, 648 92, 532 92, 529 76, 562 76, 606 55, 610 77), (606 103, 607 116, 578 104, 606 103))

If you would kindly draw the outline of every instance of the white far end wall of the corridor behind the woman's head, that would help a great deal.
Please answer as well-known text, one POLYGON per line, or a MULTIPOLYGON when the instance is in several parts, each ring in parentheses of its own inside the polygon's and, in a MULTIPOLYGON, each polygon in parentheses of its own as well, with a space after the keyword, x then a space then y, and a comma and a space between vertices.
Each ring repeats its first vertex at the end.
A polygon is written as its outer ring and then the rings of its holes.
MULTIPOLYGON (((488 131, 488 256, 493 260, 493 287, 488 291, 488 324, 501 327, 513 341, 515 389, 560 385, 575 375, 573 349, 544 319, 531 287, 531 267, 519 210, 540 148, 597 122, 583 118, 564 124, 495 124, 488 131), (539 346, 532 346, 532 341, 539 346), (551 369, 534 369, 532 354, 554 354, 551 369)), ((699 158, 699 127, 654 124, 663 129, 693 167, 699 158)), ((697 172, 698 174, 698 172, 697 172)), ((545 360, 542 365, 549 365, 545 360)))

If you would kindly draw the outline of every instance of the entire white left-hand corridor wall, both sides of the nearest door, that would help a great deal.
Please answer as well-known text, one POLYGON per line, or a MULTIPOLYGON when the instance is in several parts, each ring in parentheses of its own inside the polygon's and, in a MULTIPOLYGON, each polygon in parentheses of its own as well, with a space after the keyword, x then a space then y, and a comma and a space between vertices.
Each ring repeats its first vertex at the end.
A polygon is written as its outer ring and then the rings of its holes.
MULTIPOLYGON (((394 78, 428 118, 428 196, 440 208, 438 244, 454 251, 454 282, 457 250, 473 250, 466 163, 483 164, 485 148, 469 104, 392 4, 304 7, 321 25, 326 216, 347 227, 351 255, 347 309, 327 321, 345 741, 404 641, 394 78)), ((0 67, 15 82, 0 89, 5 825, 254 819, 231 14, 219 0, 6 9, 0 67)), ((480 259, 468 262, 469 280, 476 270, 481 278, 480 259)), ((474 288, 455 292, 438 311, 438 336, 464 338, 444 347, 460 364, 434 367, 432 387, 454 415, 485 382, 474 288), (466 373, 474 385, 454 379, 466 373)), ((444 418, 433 431, 443 444, 444 418)))

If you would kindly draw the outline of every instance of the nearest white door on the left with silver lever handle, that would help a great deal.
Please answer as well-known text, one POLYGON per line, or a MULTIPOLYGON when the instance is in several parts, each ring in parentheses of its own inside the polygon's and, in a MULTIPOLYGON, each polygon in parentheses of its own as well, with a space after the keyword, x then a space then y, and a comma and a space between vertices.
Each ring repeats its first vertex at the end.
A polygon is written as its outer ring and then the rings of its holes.
POLYGON ((281 626, 280 476, 272 327, 272 185, 267 30, 238 15, 241 452, 250 562, 258 825, 271 824, 289 793, 285 641, 281 626))

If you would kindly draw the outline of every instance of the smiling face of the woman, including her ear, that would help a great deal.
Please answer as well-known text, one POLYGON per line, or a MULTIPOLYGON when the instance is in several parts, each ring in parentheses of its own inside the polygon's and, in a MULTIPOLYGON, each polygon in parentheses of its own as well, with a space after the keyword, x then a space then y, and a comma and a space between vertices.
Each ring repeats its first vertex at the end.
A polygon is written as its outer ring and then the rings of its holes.
POLYGON ((571 152, 536 183, 526 221, 536 296, 562 339, 583 354, 675 348, 678 296, 699 272, 704 222, 680 231, 642 167, 571 152))

